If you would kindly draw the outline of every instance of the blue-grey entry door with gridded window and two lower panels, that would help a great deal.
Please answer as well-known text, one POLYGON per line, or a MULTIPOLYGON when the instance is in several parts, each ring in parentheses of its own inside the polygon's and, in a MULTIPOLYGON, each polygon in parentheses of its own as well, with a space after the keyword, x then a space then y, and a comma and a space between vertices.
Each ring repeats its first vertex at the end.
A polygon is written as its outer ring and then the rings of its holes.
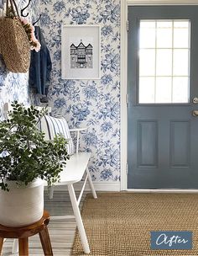
POLYGON ((128 20, 128 188, 198 189, 198 7, 129 7, 128 20))

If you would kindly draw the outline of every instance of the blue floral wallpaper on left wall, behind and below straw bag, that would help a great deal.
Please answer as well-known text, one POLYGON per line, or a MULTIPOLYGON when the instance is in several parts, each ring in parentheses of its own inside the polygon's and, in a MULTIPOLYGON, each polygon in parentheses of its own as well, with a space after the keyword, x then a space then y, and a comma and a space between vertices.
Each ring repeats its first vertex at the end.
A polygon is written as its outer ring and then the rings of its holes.
MULTIPOLYGON (((28 2, 28 0, 18 0, 19 13, 20 9, 24 8, 28 2)), ((37 7, 38 4, 32 4, 25 10, 24 14, 29 13, 28 19, 37 18, 37 7)), ((1 12, 2 9, 0 9, 1 12)), ((3 105, 13 100, 18 100, 23 104, 34 102, 34 94, 29 91, 29 74, 9 72, 4 65, 3 57, 0 55, 0 120, 3 119, 3 105)))

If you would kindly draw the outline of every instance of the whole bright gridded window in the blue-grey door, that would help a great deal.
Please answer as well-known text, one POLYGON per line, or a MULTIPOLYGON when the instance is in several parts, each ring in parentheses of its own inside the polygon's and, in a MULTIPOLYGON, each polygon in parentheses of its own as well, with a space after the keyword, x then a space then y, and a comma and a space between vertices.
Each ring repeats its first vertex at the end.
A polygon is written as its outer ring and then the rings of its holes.
POLYGON ((138 102, 189 103, 190 20, 140 20, 138 102))

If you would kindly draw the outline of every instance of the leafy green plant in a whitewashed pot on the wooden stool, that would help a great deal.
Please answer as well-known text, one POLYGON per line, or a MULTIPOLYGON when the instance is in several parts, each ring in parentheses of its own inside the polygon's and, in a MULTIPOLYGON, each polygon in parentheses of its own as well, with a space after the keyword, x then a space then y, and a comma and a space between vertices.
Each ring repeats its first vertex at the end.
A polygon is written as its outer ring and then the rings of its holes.
POLYGON ((59 181, 69 158, 66 140, 44 141, 39 120, 46 109, 14 102, 0 123, 0 224, 20 227, 39 221, 44 211, 44 183, 59 181))

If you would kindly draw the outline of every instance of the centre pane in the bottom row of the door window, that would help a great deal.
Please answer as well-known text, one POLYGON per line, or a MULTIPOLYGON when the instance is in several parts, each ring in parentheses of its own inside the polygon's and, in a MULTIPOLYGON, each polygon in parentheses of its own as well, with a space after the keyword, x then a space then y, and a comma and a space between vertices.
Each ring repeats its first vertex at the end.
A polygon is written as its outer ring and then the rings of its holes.
POLYGON ((156 101, 155 103, 171 103, 171 77, 156 78, 156 101))

